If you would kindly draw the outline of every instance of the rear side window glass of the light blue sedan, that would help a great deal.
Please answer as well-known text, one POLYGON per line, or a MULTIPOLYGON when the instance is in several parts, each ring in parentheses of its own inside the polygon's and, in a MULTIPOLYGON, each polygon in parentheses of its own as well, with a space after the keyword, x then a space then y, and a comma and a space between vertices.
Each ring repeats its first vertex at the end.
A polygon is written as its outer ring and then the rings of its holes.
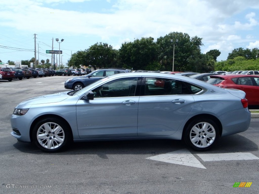
POLYGON ((146 78, 145 96, 196 94, 202 91, 195 85, 168 78, 146 78))

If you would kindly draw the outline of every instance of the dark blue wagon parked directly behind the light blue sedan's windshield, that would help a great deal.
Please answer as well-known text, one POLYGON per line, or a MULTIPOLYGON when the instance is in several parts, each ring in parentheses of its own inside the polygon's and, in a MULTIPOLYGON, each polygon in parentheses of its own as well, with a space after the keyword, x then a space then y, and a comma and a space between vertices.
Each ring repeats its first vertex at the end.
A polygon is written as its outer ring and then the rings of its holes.
POLYGON ((80 90, 93 82, 102 79, 106 76, 111 76, 113 74, 118 73, 129 73, 130 71, 123 69, 123 68, 102 68, 95 70, 85 76, 79 76, 75 78, 70 78, 65 81, 65 88, 66 89, 73 89, 73 90, 80 90))

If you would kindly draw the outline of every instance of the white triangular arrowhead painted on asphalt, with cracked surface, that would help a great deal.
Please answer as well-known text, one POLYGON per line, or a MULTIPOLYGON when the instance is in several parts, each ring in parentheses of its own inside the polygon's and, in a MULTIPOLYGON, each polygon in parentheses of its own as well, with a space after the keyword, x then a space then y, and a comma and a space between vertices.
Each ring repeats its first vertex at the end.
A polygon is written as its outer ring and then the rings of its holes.
POLYGON ((194 155, 192 155, 191 152, 189 152, 187 149, 151 156, 146 159, 168 162, 172 164, 179 164, 184 166, 192 166, 197 168, 205 168, 205 166, 203 166, 202 163, 200 163, 199 160, 197 160, 194 157, 194 155))

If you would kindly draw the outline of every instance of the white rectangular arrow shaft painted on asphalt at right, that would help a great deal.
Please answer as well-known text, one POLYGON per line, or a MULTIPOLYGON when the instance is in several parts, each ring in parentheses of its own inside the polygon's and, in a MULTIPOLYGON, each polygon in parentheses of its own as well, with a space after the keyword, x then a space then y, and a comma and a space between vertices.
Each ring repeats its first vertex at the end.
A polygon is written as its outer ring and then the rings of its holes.
POLYGON ((251 153, 218 153, 218 154, 197 154, 204 162, 222 160, 258 160, 259 158, 251 153))

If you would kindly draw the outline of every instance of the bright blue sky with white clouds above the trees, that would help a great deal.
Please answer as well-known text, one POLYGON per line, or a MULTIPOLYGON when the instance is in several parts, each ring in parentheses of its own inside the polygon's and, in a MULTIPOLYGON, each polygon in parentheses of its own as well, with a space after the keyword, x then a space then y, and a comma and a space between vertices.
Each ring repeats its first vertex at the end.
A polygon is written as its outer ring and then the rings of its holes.
MULTIPOLYGON (((57 62, 95 43, 119 49, 142 37, 170 32, 202 38, 202 53, 218 49, 218 61, 235 48, 259 48, 258 0, 1 0, 0 60, 51 61, 46 50, 62 50, 57 62), (58 38, 59 43, 55 39, 58 38)), ((55 59, 56 61, 56 59, 55 59)))

